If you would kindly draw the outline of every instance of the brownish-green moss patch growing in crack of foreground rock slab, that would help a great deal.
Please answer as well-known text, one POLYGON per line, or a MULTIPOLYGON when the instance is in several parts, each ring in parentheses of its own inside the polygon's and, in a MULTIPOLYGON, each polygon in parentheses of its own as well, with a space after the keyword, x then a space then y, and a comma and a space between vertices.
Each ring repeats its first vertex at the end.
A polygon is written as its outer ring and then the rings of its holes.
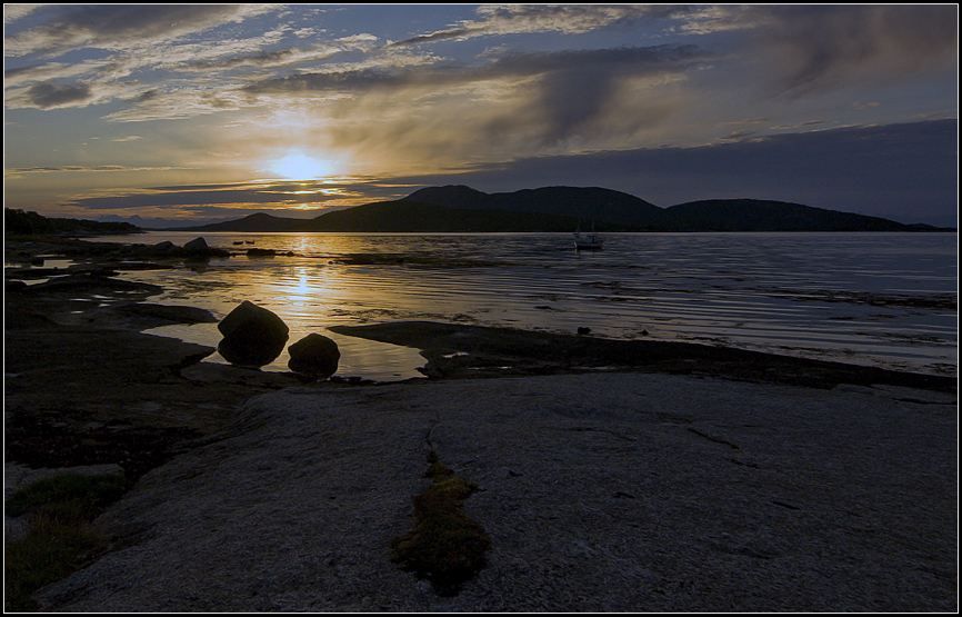
POLYGON ((487 564, 491 540, 484 528, 464 514, 462 501, 478 485, 454 476, 431 452, 427 477, 432 485, 412 499, 414 528, 391 541, 391 560, 427 578, 441 595, 455 595, 487 564))

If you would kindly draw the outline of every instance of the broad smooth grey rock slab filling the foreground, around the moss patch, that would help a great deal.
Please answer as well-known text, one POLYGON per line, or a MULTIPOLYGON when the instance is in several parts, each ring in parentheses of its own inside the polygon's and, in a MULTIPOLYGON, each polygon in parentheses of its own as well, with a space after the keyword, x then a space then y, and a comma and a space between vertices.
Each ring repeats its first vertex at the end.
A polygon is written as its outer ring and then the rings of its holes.
POLYGON ((954 611, 954 394, 585 374, 295 387, 158 467, 50 611, 954 611), (454 597, 391 563, 425 452, 479 490, 454 597))

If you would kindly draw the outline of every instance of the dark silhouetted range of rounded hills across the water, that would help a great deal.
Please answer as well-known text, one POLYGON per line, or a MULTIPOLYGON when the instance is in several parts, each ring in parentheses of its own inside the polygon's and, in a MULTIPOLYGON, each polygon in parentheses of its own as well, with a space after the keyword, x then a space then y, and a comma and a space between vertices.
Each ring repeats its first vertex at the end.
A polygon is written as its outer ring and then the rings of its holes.
POLYGON ((397 201, 328 212, 313 219, 265 213, 184 231, 507 232, 573 231, 924 231, 878 217, 758 199, 711 199, 660 208, 603 188, 545 187, 485 193, 465 186, 430 187, 397 201))

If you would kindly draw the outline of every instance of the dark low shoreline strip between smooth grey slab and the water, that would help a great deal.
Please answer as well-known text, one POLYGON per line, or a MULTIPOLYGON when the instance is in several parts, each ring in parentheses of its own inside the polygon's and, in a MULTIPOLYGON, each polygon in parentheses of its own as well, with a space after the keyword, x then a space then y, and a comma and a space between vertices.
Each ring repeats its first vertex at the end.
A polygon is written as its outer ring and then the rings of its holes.
MULTIPOLYGON (((114 434, 126 427, 209 435, 230 424, 233 409, 245 400, 302 385, 292 372, 204 362, 213 348, 142 332, 162 325, 216 321, 202 309, 151 303, 150 298, 162 291, 157 286, 114 278, 121 269, 174 267, 186 259, 182 253, 144 245, 48 240, 8 241, 4 247, 8 259, 13 255, 29 261, 53 253, 76 261, 68 269, 4 271, 6 419, 14 440, 21 430, 37 432, 43 427, 62 434, 63 425, 83 436, 77 440, 103 440, 110 436, 94 437, 90 427, 99 424, 102 431, 110 422, 114 434), (44 275, 53 278, 18 282, 44 275), (53 428, 58 425, 60 429, 53 428)), ((888 385, 958 392, 956 377, 693 342, 430 321, 330 330, 419 349, 425 360, 420 370, 428 381, 629 371, 816 388, 888 385)), ((338 377, 312 387, 369 384, 373 381, 338 377)), ((16 445, 12 451, 19 452, 16 445)), ((88 454, 79 456, 78 462, 117 462, 103 458, 109 457, 88 454)), ((31 465, 37 462, 31 458, 31 465)))

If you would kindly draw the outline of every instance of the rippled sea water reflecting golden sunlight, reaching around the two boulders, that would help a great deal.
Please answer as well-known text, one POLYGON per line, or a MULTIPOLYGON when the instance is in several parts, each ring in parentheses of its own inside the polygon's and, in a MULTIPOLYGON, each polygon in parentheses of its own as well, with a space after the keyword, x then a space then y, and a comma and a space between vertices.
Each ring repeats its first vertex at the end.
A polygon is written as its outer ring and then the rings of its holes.
MULTIPOLYGON (((182 246, 197 236, 108 240, 182 246)), ((163 286, 161 302, 218 318, 250 300, 288 324, 291 342, 311 331, 330 336, 341 347, 339 375, 419 375, 417 350, 325 330, 412 319, 559 332, 589 327, 610 338, 956 375, 955 233, 610 233, 599 252, 577 252, 568 233, 203 237, 237 252, 253 246, 295 257, 234 256, 198 270, 124 277, 163 286)), ((150 331, 220 340, 216 325, 150 331)), ((287 355, 265 370, 287 370, 287 355)))

